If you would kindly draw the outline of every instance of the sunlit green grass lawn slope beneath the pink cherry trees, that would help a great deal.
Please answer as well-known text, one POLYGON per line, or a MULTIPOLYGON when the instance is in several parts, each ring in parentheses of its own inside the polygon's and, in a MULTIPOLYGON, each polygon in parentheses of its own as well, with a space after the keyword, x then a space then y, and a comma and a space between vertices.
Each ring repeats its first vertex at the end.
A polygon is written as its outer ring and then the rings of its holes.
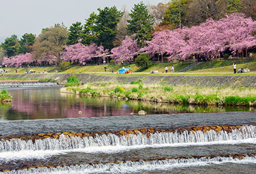
MULTIPOLYGON (((135 64, 131 64, 130 68, 132 74, 126 74, 122 76, 224 76, 224 75, 234 75, 232 61, 225 62, 202 62, 199 65, 195 66, 194 70, 187 71, 185 73, 179 73, 180 70, 189 65, 189 63, 152 63, 148 68, 138 68, 135 64), (170 66, 174 66, 175 73, 170 73, 170 66), (222 66, 227 65, 227 66, 222 66), (168 67, 168 73, 165 72, 165 66, 168 67), (221 66, 221 67, 219 67, 221 66), (214 68, 208 68, 214 67, 214 68), (200 70, 202 68, 202 70, 200 70), (151 70, 158 70, 159 73, 150 74, 151 70)), ((92 73, 97 75, 108 75, 108 76, 120 76, 117 75, 117 71, 124 66, 128 68, 129 65, 93 65, 93 66, 71 66, 68 70, 61 71, 59 73, 92 73), (105 73, 104 66, 107 67, 107 73, 105 73), (111 70, 114 73, 111 73, 111 70)), ((241 73, 237 75, 256 75, 256 60, 253 60, 248 63, 237 64, 237 70, 240 68, 249 68, 250 73, 241 73)), ((49 73, 55 73, 56 67, 34 67, 34 68, 5 68, 8 71, 8 74, 15 74, 16 70, 19 74, 24 74, 26 70, 36 70, 36 73, 46 70, 49 73)))

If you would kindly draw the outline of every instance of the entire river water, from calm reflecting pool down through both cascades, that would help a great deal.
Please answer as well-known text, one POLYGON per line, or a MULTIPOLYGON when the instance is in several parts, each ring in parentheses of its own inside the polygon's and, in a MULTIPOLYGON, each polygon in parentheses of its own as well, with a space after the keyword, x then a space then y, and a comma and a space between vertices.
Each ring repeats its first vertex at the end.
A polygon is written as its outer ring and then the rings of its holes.
POLYGON ((59 88, 8 92, 0 173, 256 173, 254 108, 87 98, 59 88), (140 109, 169 115, 126 116, 140 109))

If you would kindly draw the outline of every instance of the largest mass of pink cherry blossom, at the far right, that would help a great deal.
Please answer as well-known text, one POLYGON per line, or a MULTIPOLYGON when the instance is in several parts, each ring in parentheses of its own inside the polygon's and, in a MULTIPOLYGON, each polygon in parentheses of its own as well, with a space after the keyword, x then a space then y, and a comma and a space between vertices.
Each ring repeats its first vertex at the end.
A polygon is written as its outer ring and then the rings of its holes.
POLYGON ((169 60, 174 57, 184 60, 195 53, 214 58, 227 49, 235 54, 254 47, 256 38, 252 32, 255 30, 256 21, 243 14, 231 14, 219 21, 208 19, 191 28, 155 32, 143 50, 151 54, 159 52, 169 55, 169 60))

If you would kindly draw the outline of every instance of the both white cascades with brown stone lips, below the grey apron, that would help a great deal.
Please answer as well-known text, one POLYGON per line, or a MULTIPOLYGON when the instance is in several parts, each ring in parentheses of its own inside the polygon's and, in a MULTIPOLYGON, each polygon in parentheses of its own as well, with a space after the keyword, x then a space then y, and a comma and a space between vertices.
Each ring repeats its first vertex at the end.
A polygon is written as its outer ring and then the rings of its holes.
MULTIPOLYGON (((77 152, 87 155, 113 154, 142 149, 182 150, 184 147, 239 144, 256 144, 254 124, 7 135, 0 137, 0 172, 4 174, 72 173, 74 171, 77 173, 129 173, 131 170, 136 173, 147 171, 149 168, 150 170, 171 170, 223 163, 256 163, 256 153, 185 157, 156 155, 154 158, 121 158, 113 161, 104 161, 101 158, 102 162, 90 162, 82 156, 79 160, 51 162, 52 156, 64 155, 62 158, 67 158, 77 152), (34 153, 37 155, 33 155, 34 153), (14 158, 16 156, 19 158, 14 158), (33 158, 34 160, 31 160, 33 158), (1 164, 8 167, 2 167, 1 164)), ((169 153, 169 150, 166 153, 169 153)))

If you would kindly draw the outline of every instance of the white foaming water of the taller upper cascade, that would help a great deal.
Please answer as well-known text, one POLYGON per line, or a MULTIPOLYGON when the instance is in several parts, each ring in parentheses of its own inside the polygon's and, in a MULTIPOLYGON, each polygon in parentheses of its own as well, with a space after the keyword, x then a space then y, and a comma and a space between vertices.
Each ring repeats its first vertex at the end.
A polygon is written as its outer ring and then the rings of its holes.
POLYGON ((0 160, 12 158, 44 158, 68 152, 116 153, 147 147, 182 147, 214 144, 256 144, 256 126, 244 126, 232 132, 226 131, 184 131, 160 132, 150 135, 129 134, 118 137, 115 134, 96 137, 64 137, 59 139, 0 140, 0 160), (35 155, 38 154, 38 155, 35 155))

